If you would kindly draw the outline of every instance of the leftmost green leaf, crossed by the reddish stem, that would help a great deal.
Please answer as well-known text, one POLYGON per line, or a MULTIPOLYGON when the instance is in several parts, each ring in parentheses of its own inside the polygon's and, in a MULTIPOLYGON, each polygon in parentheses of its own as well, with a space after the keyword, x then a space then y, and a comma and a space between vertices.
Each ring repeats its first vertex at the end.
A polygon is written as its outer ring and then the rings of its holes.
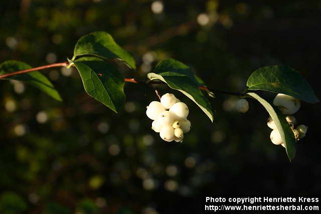
MULTIPOLYGON (((0 75, 8 74, 16 71, 31 69, 32 67, 26 63, 9 60, 0 65, 0 75)), ((42 90, 52 98, 62 101, 58 91, 54 88, 53 84, 47 79, 46 76, 39 71, 33 71, 25 74, 18 74, 15 76, 5 78, 7 80, 19 80, 26 82, 36 88, 42 90)))

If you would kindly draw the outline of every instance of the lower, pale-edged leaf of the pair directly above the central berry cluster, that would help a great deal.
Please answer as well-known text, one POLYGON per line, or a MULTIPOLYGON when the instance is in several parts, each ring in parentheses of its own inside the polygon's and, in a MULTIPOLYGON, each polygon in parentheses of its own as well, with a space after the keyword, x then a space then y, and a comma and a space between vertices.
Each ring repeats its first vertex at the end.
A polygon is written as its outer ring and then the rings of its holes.
POLYGON ((213 122, 212 107, 208 99, 203 95, 198 85, 184 74, 176 72, 163 72, 159 74, 149 73, 147 77, 150 80, 161 80, 168 84, 172 89, 176 89, 188 98, 193 100, 213 122))

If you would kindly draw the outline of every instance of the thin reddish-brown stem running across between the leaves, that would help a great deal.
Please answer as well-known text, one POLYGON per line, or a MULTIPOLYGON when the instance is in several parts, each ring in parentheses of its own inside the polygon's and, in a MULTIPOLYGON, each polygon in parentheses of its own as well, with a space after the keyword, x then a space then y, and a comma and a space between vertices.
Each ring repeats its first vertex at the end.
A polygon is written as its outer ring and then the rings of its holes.
MULTIPOLYGON (((36 68, 31 68, 31 69, 26 69, 26 70, 22 70, 22 71, 16 71, 16 72, 12 72, 9 74, 3 74, 0 75, 0 79, 4 79, 7 77, 11 77, 11 76, 15 76, 15 75, 19 75, 19 74, 26 74, 29 72, 33 72, 33 71, 39 71, 39 70, 44 70, 47 68, 54 68, 54 67, 68 67, 69 63, 68 62, 62 62, 62 63, 54 63, 54 64, 49 64, 49 65, 45 65, 45 66, 40 66, 40 67, 36 67, 36 68)), ((135 78, 125 78, 124 79, 125 82, 129 82, 129 83, 143 83, 143 84, 147 84, 147 85, 163 85, 166 84, 165 82, 162 81, 150 81, 150 80, 137 80, 135 78)), ((211 91, 214 93, 220 93, 220 94, 227 94, 227 95, 232 95, 232 96, 243 96, 244 93, 240 93, 240 92, 229 92, 229 91, 224 91, 224 90, 219 90, 219 89, 211 89, 208 88, 206 86, 200 86, 199 87, 201 90, 203 91, 211 91)), ((159 97, 159 99, 161 99, 159 93, 157 90, 155 90, 156 95, 159 97)))

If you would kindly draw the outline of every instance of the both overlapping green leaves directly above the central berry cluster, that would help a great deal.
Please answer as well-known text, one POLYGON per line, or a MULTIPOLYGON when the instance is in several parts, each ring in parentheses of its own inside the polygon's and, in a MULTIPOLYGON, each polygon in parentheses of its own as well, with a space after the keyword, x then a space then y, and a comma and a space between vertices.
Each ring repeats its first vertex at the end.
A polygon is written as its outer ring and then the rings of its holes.
POLYGON ((170 88, 182 92, 193 100, 213 122, 213 112, 210 102, 199 89, 199 85, 191 79, 187 67, 183 63, 177 62, 178 61, 175 60, 159 62, 155 68, 155 72, 158 73, 148 73, 148 79, 161 80, 167 83, 170 88))

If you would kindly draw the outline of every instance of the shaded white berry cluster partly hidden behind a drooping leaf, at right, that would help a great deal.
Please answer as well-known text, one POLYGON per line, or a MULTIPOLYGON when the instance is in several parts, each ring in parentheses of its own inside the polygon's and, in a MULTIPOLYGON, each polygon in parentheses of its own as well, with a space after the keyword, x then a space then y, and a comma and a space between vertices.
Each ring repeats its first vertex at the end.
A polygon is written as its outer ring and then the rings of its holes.
MULTIPOLYGON (((291 116, 291 114, 296 113, 300 109, 300 100, 289 95, 277 94, 273 100, 273 105, 277 106, 277 108, 282 112, 282 114, 287 115, 285 119, 293 131, 295 140, 300 140, 303 137, 305 137, 307 127, 305 125, 298 125, 295 128, 296 119, 295 117, 291 116)), ((274 143, 275 145, 282 145, 284 147, 285 145, 282 142, 281 135, 277 130, 276 125, 271 117, 267 119, 267 125, 271 129, 273 129, 270 134, 270 139, 272 143, 274 143)))

